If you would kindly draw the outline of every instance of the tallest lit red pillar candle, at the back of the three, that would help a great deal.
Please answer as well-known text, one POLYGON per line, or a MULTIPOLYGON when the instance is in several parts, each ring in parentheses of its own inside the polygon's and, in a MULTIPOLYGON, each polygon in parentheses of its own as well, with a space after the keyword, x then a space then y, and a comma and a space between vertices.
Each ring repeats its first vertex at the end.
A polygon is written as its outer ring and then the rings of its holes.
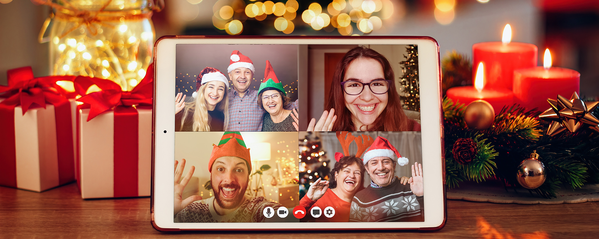
POLYGON ((511 37, 512 28, 507 24, 501 42, 479 42, 472 45, 473 66, 483 62, 487 69, 486 88, 512 90, 514 70, 537 66, 537 46, 510 42, 511 37))

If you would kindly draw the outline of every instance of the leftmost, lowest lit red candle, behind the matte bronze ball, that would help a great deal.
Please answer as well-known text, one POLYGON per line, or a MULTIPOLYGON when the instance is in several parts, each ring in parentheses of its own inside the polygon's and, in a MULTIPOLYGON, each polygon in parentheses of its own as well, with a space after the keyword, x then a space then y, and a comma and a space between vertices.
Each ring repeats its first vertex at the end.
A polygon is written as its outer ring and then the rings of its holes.
POLYGON ((489 102, 495 111, 495 114, 499 114, 501 108, 506 105, 512 105, 514 102, 514 94, 511 90, 503 88, 486 88, 484 85, 484 66, 483 63, 479 63, 479 67, 476 71, 474 78, 474 85, 452 87, 447 90, 447 97, 453 100, 453 102, 460 102, 469 105, 474 100, 483 99, 489 102))

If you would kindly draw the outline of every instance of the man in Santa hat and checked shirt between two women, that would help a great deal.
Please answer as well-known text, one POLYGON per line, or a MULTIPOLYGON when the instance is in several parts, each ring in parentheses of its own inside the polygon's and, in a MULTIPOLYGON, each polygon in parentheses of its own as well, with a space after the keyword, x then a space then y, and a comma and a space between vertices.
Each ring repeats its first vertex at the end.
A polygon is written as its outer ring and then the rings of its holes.
MULTIPOLYGON (((254 64, 252 60, 235 50, 229 60, 229 79, 232 89, 229 91, 229 131, 262 131, 262 115, 264 109, 258 105, 258 91, 249 90, 254 79, 254 64)), ((298 108, 298 101, 284 107, 291 110, 298 108)))

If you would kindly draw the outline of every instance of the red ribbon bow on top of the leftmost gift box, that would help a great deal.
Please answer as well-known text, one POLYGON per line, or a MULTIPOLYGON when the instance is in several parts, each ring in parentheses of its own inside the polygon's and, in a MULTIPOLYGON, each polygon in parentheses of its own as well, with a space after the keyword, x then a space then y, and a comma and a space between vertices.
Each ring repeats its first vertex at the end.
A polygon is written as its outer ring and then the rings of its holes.
POLYGON ((56 105, 68 101, 56 89, 56 81, 73 81, 75 76, 43 76, 34 77, 31 66, 10 69, 7 72, 8 86, 0 85, 0 96, 6 97, 0 105, 14 108, 21 106, 23 115, 29 109, 41 107, 46 109, 46 103, 56 105))

